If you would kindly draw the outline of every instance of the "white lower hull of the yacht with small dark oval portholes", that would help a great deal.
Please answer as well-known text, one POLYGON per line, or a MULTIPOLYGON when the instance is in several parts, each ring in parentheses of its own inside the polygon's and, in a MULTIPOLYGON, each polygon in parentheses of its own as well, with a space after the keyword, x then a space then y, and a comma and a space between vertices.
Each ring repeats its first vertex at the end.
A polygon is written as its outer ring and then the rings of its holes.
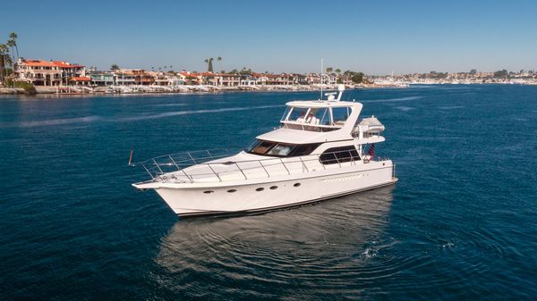
POLYGON ((392 162, 386 160, 253 183, 249 180, 202 185, 162 183, 154 188, 180 216, 256 213, 387 186, 396 182, 393 168, 392 162))

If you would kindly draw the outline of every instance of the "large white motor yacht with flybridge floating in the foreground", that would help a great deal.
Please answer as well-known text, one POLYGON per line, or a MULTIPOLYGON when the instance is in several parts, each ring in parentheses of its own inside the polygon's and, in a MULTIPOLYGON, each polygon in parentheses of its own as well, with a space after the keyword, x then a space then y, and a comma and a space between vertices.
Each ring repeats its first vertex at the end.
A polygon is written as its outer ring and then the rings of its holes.
POLYGON ((396 182, 395 165, 374 154, 384 126, 360 118, 362 104, 327 100, 286 104, 280 127, 236 155, 225 149, 163 155, 141 165, 180 216, 255 213, 318 202, 396 182))

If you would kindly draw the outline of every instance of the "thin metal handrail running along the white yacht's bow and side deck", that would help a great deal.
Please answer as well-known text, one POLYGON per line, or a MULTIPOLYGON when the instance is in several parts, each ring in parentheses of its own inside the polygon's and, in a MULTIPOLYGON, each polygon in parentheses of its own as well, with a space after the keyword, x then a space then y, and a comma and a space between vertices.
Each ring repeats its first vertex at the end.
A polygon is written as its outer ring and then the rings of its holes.
MULTIPOLYGON (((219 150, 226 150, 226 149, 219 149, 219 150)), ((179 181, 186 181, 193 183, 196 181, 194 177, 201 177, 204 179, 207 179, 207 177, 216 177, 218 181, 222 182, 224 181, 226 174, 240 171, 242 174, 244 180, 248 180, 248 176, 251 175, 251 173, 248 173, 248 171, 254 171, 260 170, 264 171, 263 173, 266 173, 266 177, 271 177, 271 168, 275 166, 280 166, 280 172, 285 171, 288 175, 291 175, 293 172, 289 168, 289 166, 292 166, 294 163, 299 163, 302 166, 302 173, 303 172, 310 172, 310 168, 308 168, 308 165, 306 163, 309 162, 316 162, 320 163, 320 165, 323 167, 324 170, 327 169, 327 165, 330 164, 336 164, 339 168, 342 167, 342 163, 350 163, 351 165, 354 163, 356 164, 357 161, 362 161, 364 163, 367 163, 371 160, 371 158, 368 158, 367 155, 353 155, 353 152, 350 150, 343 150, 343 151, 337 151, 337 152, 330 152, 330 153, 323 153, 323 154, 315 154, 315 155, 304 155, 304 156, 297 156, 297 157, 288 157, 288 158, 282 158, 282 157, 268 157, 263 159, 257 159, 257 160, 244 160, 239 162, 219 162, 219 163, 199 163, 200 160, 208 160, 210 159, 218 159, 223 158, 228 155, 214 155, 211 154, 209 150, 206 151, 198 151, 198 152, 186 152, 186 153, 180 153, 177 155, 187 155, 188 158, 192 158, 192 160, 183 160, 183 161, 176 161, 174 156, 176 155, 161 155, 155 158, 151 158, 149 160, 143 161, 141 163, 133 163, 132 165, 142 165, 145 171, 149 173, 149 176, 153 180, 159 180, 166 182, 167 180, 179 180, 179 181), (200 157, 196 157, 193 155, 194 153, 200 153, 203 152, 209 157, 204 157, 203 159, 200 157), (340 154, 345 154, 344 156, 338 156, 340 154), (321 155, 328 155, 328 158, 321 158, 321 155), (332 156, 330 156, 332 155, 332 156), (166 162, 161 162, 163 158, 167 158, 166 162), (286 160, 284 160, 286 159, 286 160), (335 159, 335 160, 334 160, 335 159), (184 163, 185 161, 190 161, 191 164, 184 163), (330 163, 331 162, 331 163, 330 163), (258 163, 254 164, 254 166, 246 166, 241 167, 239 166, 239 163, 241 164, 247 164, 247 163, 258 163), (192 165, 197 166, 206 166, 207 172, 198 171, 196 173, 191 173, 185 171, 186 167, 190 167, 192 165), (225 171, 218 171, 218 169, 222 168, 222 165, 234 165, 236 166, 236 169, 225 171), (185 166, 185 167, 183 167, 185 166), (218 168, 216 168, 218 167, 218 168), (281 169, 283 167, 283 169, 281 169), (174 168, 172 170, 168 170, 169 168, 174 168), (181 172, 182 175, 174 174, 175 172, 181 172), (181 177, 186 177, 186 180, 182 180, 181 177), (223 178, 224 177, 224 178, 223 178)), ((377 160, 388 160, 377 158, 377 160)), ((394 167, 395 169, 395 167, 394 167)))

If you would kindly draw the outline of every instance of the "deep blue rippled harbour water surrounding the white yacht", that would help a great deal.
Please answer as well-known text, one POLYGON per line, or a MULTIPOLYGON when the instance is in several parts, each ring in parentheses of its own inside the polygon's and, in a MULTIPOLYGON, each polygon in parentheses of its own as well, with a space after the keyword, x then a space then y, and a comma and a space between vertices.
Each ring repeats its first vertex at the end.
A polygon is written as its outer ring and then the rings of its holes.
POLYGON ((395 186, 178 219, 127 165, 248 146, 315 92, 0 97, 0 300, 536 300, 537 87, 346 91, 395 186))

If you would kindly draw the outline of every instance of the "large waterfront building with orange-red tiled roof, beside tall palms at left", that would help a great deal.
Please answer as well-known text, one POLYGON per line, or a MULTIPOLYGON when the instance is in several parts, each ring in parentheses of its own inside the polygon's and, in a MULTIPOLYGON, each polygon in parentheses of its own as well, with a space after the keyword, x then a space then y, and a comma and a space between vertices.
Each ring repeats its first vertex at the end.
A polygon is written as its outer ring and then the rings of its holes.
POLYGON ((72 83, 72 78, 84 77, 86 68, 77 63, 19 58, 15 64, 15 78, 35 86, 68 85, 72 83))

